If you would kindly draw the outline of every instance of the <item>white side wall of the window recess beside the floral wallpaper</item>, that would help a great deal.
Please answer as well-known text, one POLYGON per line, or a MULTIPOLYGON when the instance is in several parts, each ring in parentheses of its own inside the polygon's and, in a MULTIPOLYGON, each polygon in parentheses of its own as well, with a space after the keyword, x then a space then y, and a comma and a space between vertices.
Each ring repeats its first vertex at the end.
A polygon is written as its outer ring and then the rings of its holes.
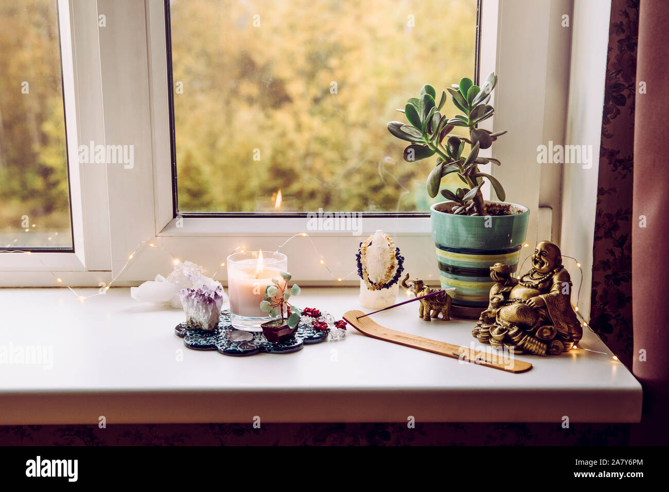
MULTIPOLYGON (((586 319, 590 311, 599 141, 610 14, 610 0, 574 0, 565 144, 591 145, 593 163, 589 169, 579 164, 563 165, 561 249, 563 254, 577 258, 583 266, 579 311, 586 319)), ((565 260, 565 266, 571 272, 575 271, 573 262, 565 260)), ((577 289, 577 272, 572 274, 572 280, 577 289)))

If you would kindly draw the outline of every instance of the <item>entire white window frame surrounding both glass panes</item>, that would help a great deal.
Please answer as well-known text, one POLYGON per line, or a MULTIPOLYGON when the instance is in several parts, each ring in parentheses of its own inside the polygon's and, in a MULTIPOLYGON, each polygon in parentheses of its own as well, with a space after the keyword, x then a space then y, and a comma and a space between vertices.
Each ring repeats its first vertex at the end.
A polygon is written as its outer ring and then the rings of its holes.
MULTIPOLYGON (((493 146, 492 155, 502 161, 502 166, 490 172, 504 183, 508 200, 530 208, 530 244, 537 240, 534 212, 539 207, 541 177, 541 166, 535 161, 536 146, 547 140, 549 121, 566 119, 566 108, 563 112, 551 108, 549 117, 545 106, 552 92, 567 91, 566 86, 549 84, 548 67, 554 42, 550 34, 555 37, 556 32, 555 11, 569 3, 482 0, 481 5, 479 73, 484 77, 494 71, 500 77, 493 96, 496 115, 486 127, 510 130, 493 146), (518 37, 518 32, 526 33, 526 37, 518 37), (532 76, 528 78, 527 74, 532 76), (526 90, 518 90, 520 86, 526 90)), ((64 76, 64 86, 76 253, 73 264, 62 268, 72 273, 74 282, 70 284, 96 286, 101 278, 108 280, 118 274, 117 285, 137 284, 153 279, 157 273, 167 274, 171 258, 157 249, 143 249, 136 261, 127 265, 128 255, 142 242, 157 244, 179 259, 202 264, 211 274, 238 246, 276 250, 300 232, 309 234, 318 254, 308 238, 295 238, 282 248, 296 280, 331 286, 357 284, 357 276, 351 274, 355 270, 355 250, 377 229, 395 237, 406 258, 407 272, 438 283, 428 217, 365 217, 361 236, 310 231, 307 220, 299 218, 174 218, 163 1, 59 0, 59 7, 68 11, 67 16, 61 16, 64 61, 68 39, 72 44, 72 83, 64 76), (105 16, 106 27, 92 23, 98 15, 105 16), (73 117, 70 100, 76 101, 73 117), (75 129, 77 134, 70 136, 75 129), (77 165, 73 157, 78 143, 90 140, 133 145, 134 168, 77 165), (89 176, 91 173, 95 175, 89 176), (321 259, 334 273, 334 279, 320 266, 321 259), (343 282, 337 281, 339 276, 343 282)), ((64 62, 64 74, 67 70, 64 62)), ((37 254, 31 256, 20 258, 21 262, 13 266, 0 263, 0 270, 14 268, 13 273, 19 274, 9 280, 3 277, 3 284, 54 285, 51 274, 34 280, 25 275, 33 270, 44 273, 44 267, 35 263, 37 254)), ((63 258, 66 254, 39 254, 49 268, 58 266, 63 258)), ((6 261, 6 256, 0 256, 2 260, 6 261)), ((216 278, 225 282, 225 268, 216 278)))

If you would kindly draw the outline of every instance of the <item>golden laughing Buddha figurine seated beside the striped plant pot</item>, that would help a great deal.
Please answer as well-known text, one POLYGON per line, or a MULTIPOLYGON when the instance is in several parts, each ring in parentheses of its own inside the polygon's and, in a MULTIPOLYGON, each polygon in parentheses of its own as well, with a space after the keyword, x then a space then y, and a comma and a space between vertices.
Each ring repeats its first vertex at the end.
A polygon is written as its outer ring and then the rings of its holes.
POLYGON ((557 355, 583 336, 571 307, 571 278, 557 244, 537 244, 532 269, 520 278, 512 277, 502 263, 490 267, 490 278, 495 281, 490 304, 472 331, 479 341, 515 347, 516 353, 557 355))

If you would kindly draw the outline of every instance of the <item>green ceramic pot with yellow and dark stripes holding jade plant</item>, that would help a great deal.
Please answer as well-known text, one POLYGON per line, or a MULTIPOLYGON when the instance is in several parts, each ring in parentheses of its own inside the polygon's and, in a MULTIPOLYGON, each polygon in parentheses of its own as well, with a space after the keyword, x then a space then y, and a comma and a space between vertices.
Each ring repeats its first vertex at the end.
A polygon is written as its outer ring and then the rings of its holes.
POLYGON ((527 233, 529 208, 506 203, 508 216, 456 216, 440 210, 450 210, 457 203, 442 201, 430 207, 432 239, 437 250, 442 289, 449 292, 454 306, 484 308, 488 306, 490 266, 506 263, 516 271, 520 248, 527 233))

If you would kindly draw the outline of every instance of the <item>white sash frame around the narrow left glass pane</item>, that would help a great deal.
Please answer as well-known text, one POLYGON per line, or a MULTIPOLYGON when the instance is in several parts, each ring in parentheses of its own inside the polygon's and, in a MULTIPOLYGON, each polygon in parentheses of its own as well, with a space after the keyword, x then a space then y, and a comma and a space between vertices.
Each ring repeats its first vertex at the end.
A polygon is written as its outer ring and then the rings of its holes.
POLYGON ((104 141, 97 17, 94 2, 58 0, 74 252, 0 254, 0 286, 97 285, 110 278, 106 169, 80 165, 77 151, 81 143, 104 141))

